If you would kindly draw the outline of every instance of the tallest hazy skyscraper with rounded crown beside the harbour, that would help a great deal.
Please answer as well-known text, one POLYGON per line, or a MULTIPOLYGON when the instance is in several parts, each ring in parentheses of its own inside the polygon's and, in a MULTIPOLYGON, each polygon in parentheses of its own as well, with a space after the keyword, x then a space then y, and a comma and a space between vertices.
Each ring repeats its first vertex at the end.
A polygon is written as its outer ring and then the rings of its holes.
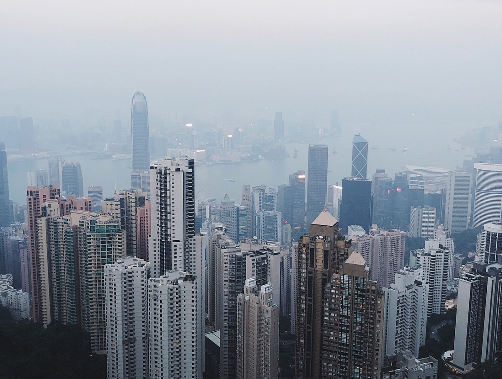
POLYGON ((148 127, 147 98, 135 92, 131 102, 131 141, 133 144, 133 171, 150 168, 150 131, 148 127))

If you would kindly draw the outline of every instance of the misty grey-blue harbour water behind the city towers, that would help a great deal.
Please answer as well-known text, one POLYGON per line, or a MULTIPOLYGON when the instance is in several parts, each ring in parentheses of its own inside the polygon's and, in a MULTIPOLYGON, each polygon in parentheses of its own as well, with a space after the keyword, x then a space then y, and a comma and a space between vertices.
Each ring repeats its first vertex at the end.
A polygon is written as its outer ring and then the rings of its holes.
MULTIPOLYGON (((402 171, 403 166, 438 166, 454 169, 462 166, 464 158, 473 154, 472 149, 461 149, 454 141, 462 131, 451 133, 451 126, 413 125, 416 132, 400 132, 398 124, 375 127, 368 125, 361 128, 361 135, 369 141, 368 178, 376 168, 384 168, 391 176, 402 171), (448 132, 449 130, 449 132, 448 132), (372 148, 373 146, 373 148, 372 148), (450 146, 448 149, 447 147, 450 146), (407 151, 403 152, 404 148, 407 151)), ((286 183, 288 175, 299 169, 307 171, 309 143, 325 143, 329 146, 328 183, 341 182, 342 177, 349 176, 351 170, 351 154, 353 134, 343 136, 319 136, 317 141, 309 140, 298 143, 287 143, 286 151, 290 158, 282 161, 240 162, 231 164, 196 165, 197 198, 215 197, 221 200, 225 193, 231 199, 240 202, 242 184, 265 184, 277 186, 286 183), (294 150, 298 150, 297 158, 293 158, 294 150), (334 153, 336 151, 336 153, 334 153), (234 181, 228 180, 234 179, 234 181)), ((131 186, 131 159, 93 159, 94 154, 64 156, 66 160, 78 161, 82 167, 84 192, 89 185, 101 185, 103 196, 113 194, 115 188, 131 186)), ((26 201, 27 171, 47 169, 47 159, 22 159, 9 161, 9 188, 14 202, 24 204, 26 201)))

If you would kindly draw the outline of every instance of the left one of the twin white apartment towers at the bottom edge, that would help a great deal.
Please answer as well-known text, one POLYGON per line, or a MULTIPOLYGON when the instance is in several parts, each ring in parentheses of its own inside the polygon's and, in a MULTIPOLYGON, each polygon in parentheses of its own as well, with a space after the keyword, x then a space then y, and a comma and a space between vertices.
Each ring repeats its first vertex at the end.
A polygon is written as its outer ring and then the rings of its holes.
POLYGON ((109 379, 149 377, 150 263, 124 258, 104 266, 106 361, 109 379))

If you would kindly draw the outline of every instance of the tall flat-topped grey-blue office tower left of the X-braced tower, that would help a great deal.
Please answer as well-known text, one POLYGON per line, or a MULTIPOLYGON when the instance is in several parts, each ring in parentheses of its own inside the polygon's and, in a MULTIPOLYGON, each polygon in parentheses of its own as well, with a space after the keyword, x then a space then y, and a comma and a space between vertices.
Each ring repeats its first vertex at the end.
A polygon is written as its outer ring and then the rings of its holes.
POLYGON ((328 145, 309 145, 307 225, 322 212, 328 191, 328 145))

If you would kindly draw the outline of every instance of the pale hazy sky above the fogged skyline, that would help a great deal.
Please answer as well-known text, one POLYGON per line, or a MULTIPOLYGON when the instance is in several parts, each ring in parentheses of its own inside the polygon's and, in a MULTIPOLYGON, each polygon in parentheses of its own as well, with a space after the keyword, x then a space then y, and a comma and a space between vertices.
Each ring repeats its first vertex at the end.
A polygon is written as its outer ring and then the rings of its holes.
POLYGON ((6 1, 0 114, 502 120, 501 1, 6 1), (266 110, 266 108, 268 108, 266 110))

